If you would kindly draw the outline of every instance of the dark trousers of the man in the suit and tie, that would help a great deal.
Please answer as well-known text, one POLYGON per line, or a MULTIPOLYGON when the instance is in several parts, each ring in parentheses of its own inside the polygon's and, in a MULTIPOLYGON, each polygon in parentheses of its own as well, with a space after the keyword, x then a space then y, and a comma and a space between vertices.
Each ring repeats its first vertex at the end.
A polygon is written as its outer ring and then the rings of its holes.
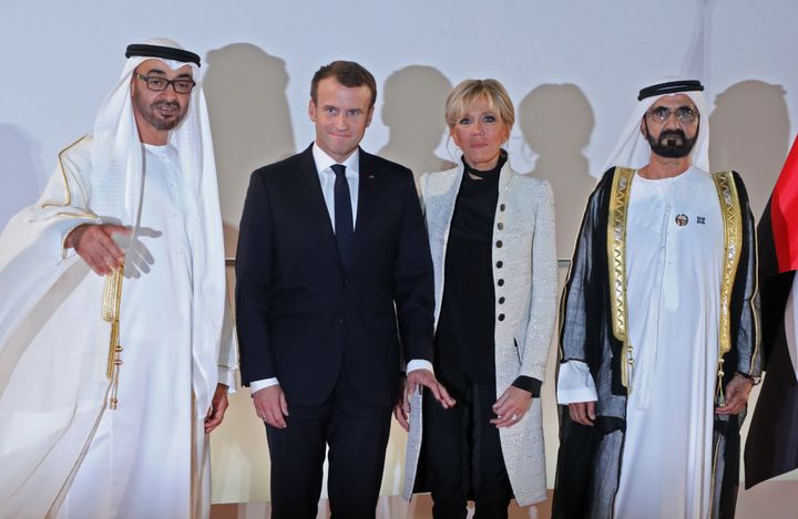
POLYGON ((391 406, 364 403, 341 374, 319 406, 291 405, 285 429, 266 426, 272 457, 272 517, 314 519, 329 447, 327 494, 331 517, 375 517, 391 406))

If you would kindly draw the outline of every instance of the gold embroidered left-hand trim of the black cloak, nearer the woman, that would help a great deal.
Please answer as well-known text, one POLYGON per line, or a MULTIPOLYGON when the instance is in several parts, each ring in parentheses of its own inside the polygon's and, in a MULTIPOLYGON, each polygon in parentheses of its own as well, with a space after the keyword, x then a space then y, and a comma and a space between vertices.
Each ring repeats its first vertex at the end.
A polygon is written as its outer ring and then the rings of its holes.
POLYGON ((610 270, 610 305, 613 335, 623 343, 621 383, 632 393, 634 357, 628 339, 626 300, 626 217, 634 169, 617 167, 613 176, 607 215, 607 266, 610 270))

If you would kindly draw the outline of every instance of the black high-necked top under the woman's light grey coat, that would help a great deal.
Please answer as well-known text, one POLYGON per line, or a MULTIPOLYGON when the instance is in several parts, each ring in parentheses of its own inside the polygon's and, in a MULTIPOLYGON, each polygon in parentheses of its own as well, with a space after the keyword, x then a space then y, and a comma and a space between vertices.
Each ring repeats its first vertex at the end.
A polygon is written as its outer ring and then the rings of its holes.
MULTIPOLYGON (((493 169, 480 172, 463 158, 466 170, 449 229, 436 335, 437 373, 454 385, 467 381, 495 384, 493 219, 499 173, 505 162, 502 153, 493 169)), ((513 385, 533 392, 535 381, 521 376, 513 385)))

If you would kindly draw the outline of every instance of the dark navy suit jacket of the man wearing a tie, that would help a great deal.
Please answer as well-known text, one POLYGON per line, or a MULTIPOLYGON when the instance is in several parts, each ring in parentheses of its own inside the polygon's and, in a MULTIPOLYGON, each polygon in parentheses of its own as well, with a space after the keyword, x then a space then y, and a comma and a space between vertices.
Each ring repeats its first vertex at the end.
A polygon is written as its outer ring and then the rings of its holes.
POLYGON ((278 377, 288 405, 318 405, 341 367, 364 399, 395 402, 405 361, 432 360, 433 272, 412 174, 360 153, 344 266, 311 147, 253 173, 236 258, 244 385, 278 377))

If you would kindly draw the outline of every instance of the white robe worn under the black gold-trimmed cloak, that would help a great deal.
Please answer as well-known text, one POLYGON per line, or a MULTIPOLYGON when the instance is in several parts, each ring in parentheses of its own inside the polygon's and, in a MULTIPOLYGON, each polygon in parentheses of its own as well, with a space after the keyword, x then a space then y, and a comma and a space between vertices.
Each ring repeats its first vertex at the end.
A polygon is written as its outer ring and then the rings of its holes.
POLYGON ((615 517, 707 517, 724 258, 712 176, 635 174, 626 236, 635 370, 615 517))

